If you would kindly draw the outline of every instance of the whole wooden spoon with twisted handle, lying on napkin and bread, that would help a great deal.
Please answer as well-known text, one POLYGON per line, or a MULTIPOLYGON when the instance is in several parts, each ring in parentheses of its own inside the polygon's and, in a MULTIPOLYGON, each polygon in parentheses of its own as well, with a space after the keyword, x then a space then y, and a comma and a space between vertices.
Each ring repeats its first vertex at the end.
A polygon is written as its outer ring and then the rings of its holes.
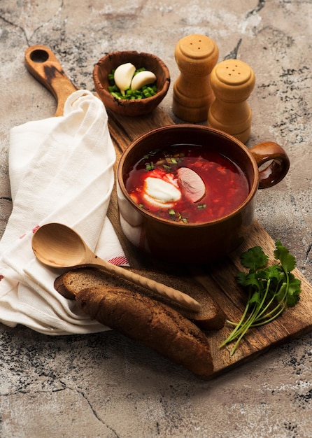
POLYGON ((158 292, 187 309, 199 310, 201 307, 199 302, 190 295, 97 257, 79 234, 66 225, 59 223, 42 225, 35 232, 31 246, 37 259, 47 266, 55 268, 97 267, 158 292))

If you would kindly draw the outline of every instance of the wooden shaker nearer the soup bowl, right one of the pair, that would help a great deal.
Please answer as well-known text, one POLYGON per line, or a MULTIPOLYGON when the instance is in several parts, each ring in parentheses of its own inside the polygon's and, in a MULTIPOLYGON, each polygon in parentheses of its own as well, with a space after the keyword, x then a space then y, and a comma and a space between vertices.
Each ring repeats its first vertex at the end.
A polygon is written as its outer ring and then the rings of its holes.
POLYGON ((215 100, 208 110, 207 125, 246 143, 251 129, 247 99, 254 86, 255 73, 245 62, 227 59, 217 64, 211 72, 215 100))

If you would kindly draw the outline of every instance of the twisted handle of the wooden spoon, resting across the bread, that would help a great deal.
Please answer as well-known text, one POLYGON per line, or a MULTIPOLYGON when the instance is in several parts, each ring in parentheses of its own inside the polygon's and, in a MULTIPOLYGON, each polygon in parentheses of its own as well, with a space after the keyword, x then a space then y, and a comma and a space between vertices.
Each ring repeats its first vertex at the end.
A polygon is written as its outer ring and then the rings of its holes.
POLYGON ((136 274, 136 272, 128 271, 120 266, 116 266, 110 262, 106 262, 106 260, 102 260, 96 255, 94 256, 94 261, 87 263, 88 266, 97 267, 99 269, 104 269, 112 274, 125 278, 126 280, 132 281, 137 285, 143 286, 143 288, 148 288, 153 290, 153 292, 157 292, 160 295, 168 297, 172 301, 180 304, 187 309, 192 309, 198 311, 201 307, 201 304, 190 297, 190 295, 185 294, 184 292, 180 292, 180 290, 176 290, 166 286, 162 283, 158 283, 151 278, 146 278, 141 276, 140 274, 136 274))

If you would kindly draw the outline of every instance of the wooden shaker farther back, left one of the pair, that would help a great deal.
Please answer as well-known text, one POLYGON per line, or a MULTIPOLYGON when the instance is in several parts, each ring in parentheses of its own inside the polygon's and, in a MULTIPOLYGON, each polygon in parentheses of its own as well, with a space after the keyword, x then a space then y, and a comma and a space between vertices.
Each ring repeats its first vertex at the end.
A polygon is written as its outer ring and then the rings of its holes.
POLYGON ((174 52, 180 76, 173 84, 173 113, 186 122, 207 120, 213 101, 210 73, 218 62, 219 50, 205 35, 185 36, 174 52))

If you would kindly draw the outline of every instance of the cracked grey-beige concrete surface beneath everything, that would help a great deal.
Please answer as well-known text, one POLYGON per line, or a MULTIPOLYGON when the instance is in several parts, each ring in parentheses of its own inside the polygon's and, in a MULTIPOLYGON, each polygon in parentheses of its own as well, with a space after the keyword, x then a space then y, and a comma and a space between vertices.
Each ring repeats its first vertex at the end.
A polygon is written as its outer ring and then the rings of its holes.
MULTIPOLYGON (((178 40, 206 34, 220 61, 255 71, 248 146, 276 141, 291 160, 287 178, 259 192, 256 217, 312 281, 311 16, 311 0, 1 0, 1 234, 9 129, 55 111, 24 67, 28 45, 50 46, 76 85, 93 90, 92 66, 106 52, 153 52, 173 81, 178 40)), ((171 103, 172 85, 162 108, 176 120, 171 103)), ((210 382, 115 332, 50 338, 2 325, 0 339, 1 437, 312 436, 311 334, 210 382)))

